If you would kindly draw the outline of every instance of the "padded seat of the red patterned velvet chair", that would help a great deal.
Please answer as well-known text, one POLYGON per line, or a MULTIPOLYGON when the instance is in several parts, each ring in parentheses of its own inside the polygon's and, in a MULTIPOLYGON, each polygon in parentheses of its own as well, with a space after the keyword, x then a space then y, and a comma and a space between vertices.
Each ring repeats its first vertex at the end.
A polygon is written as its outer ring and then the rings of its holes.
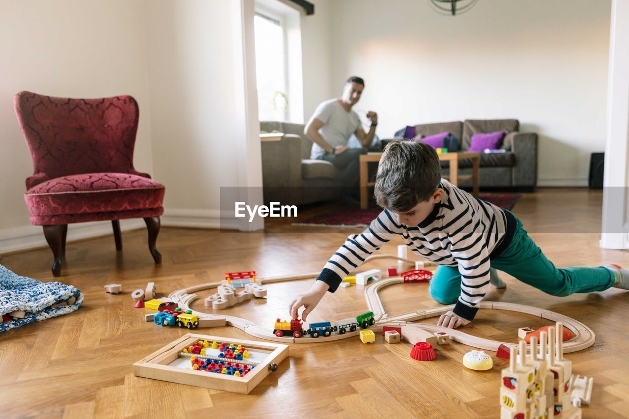
MULTIPOLYGON (((50 223, 47 217, 152 210, 160 213, 164 185, 148 177, 126 173, 86 173, 55 177, 24 194, 35 225, 50 223)), ((103 219, 97 217, 96 219, 103 219)), ((117 219, 104 218, 108 220, 117 219)), ((52 220, 52 219, 51 219, 52 220)), ((82 221, 92 221, 90 216, 82 221)), ((70 221, 77 222, 77 221, 70 221)))

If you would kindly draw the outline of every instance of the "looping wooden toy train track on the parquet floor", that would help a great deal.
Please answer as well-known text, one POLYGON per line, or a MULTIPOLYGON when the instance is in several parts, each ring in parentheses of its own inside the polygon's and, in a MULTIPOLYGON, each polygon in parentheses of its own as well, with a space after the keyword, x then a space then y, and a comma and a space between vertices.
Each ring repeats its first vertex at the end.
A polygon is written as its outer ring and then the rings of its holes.
MULTIPOLYGON (((415 265, 415 260, 409 260, 402 257, 396 257, 394 255, 372 255, 365 259, 365 263, 372 262, 374 260, 398 260, 399 262, 403 262, 406 265, 415 265)), ((430 262, 426 262, 423 267, 430 269, 432 266, 430 262)), ((320 272, 311 272, 308 274, 296 275, 296 276, 280 276, 280 277, 269 277, 269 278, 257 278, 256 282, 260 285, 270 284, 274 282, 285 282, 285 281, 296 281, 299 279, 312 279, 316 278, 320 272)), ((511 344, 508 342, 498 342, 496 340, 480 338, 476 336, 469 335, 465 333, 464 330, 460 329, 448 329, 445 327, 439 327, 434 324, 426 324, 426 323, 413 323, 415 320, 421 320, 431 317, 438 317, 443 313, 447 313, 454 308, 454 304, 450 304, 448 306, 439 306, 436 308, 428 308, 424 310, 412 311, 411 313, 405 313, 401 315, 391 316, 386 313, 384 310, 384 306, 382 305, 381 299, 378 295, 378 291, 387 286, 392 286, 394 284, 403 283, 402 277, 389 277, 387 279, 380 279, 379 281, 374 281, 365 287, 365 298, 367 299, 367 306, 369 311, 373 313, 374 324, 370 325, 370 329, 374 332, 381 332, 384 327, 403 327, 403 326, 411 326, 411 327, 420 327, 427 332, 436 333, 443 332, 449 335, 450 340, 454 340, 464 345, 469 345, 475 347, 477 349, 483 350, 491 350, 496 351, 501 345, 504 345, 504 348, 510 349, 516 347, 516 344, 511 344)), ((220 282, 210 282, 207 284, 199 284, 196 286, 191 286, 184 289, 179 289, 170 294, 170 299, 174 301, 177 306, 181 307, 182 310, 192 310, 191 304, 198 299, 198 296, 194 293, 197 291, 203 291, 205 289, 217 288, 221 285, 220 282)), ((421 286, 421 284, 418 284, 421 286)), ((574 332, 574 337, 570 340, 564 342, 564 352, 574 352, 577 350, 586 349, 594 344, 594 332, 587 327, 581 321, 574 320, 568 316, 560 315, 559 313, 555 313, 554 311, 545 310, 542 308, 535 308, 532 306, 525 306, 522 304, 513 304, 513 303, 503 303, 499 301, 482 301, 479 304, 479 308, 481 310, 508 310, 508 311, 517 311, 520 313, 527 313, 534 316, 539 316, 540 318, 545 318, 550 321, 561 321, 565 327, 569 328, 574 332)), ((208 321, 223 321, 224 324, 230 325, 233 327, 240 328, 245 333, 249 335, 263 338, 266 340, 273 340, 276 342, 289 342, 289 343, 309 343, 313 342, 311 337, 302 336, 299 338, 295 338, 292 334, 288 334, 282 332, 282 336, 276 335, 274 333, 274 329, 270 329, 268 327, 261 327, 256 325, 250 320, 240 318, 238 316, 230 316, 230 315, 216 315, 211 313, 203 313, 200 311, 192 310, 192 313, 199 316, 199 324, 203 320, 208 321)), ((338 331, 338 330, 337 330, 338 331)), ((318 337, 317 342, 331 342, 333 340, 350 338, 359 334, 359 330, 348 331, 346 333, 331 333, 330 336, 318 337)))

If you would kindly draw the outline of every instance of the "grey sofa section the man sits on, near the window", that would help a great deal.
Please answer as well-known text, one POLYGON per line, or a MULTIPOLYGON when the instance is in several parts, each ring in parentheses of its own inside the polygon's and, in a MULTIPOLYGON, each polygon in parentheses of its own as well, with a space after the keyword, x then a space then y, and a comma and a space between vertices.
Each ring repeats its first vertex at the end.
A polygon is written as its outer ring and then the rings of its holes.
POLYGON ((265 203, 300 205, 340 196, 340 170, 325 160, 310 159, 313 142, 304 134, 304 125, 260 121, 260 130, 284 133, 279 141, 262 142, 265 203))

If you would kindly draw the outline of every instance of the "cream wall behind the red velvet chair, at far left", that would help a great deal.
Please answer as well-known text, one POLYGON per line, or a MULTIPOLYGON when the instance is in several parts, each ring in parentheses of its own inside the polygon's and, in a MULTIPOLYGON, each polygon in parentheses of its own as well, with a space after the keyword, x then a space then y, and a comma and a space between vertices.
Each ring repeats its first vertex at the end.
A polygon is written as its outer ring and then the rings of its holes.
MULTIPOLYGON (((141 6, 126 0, 0 1, 0 252, 45 245, 23 198, 33 164, 13 110, 16 92, 130 94, 140 104, 135 168, 153 172, 141 6)), ((123 222, 123 228, 133 225, 123 222)), ((71 226, 68 238, 107 232, 111 223, 83 223, 71 226)))

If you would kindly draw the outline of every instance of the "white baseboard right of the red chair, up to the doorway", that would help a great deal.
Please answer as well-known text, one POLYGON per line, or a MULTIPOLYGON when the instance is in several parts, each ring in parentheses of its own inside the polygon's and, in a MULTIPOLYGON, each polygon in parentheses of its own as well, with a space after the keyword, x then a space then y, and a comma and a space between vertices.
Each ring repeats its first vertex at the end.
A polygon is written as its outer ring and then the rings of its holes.
POLYGON ((167 227, 195 227, 195 228, 223 228, 240 230, 240 220, 232 212, 221 210, 182 210, 164 209, 161 217, 162 226, 167 227))

